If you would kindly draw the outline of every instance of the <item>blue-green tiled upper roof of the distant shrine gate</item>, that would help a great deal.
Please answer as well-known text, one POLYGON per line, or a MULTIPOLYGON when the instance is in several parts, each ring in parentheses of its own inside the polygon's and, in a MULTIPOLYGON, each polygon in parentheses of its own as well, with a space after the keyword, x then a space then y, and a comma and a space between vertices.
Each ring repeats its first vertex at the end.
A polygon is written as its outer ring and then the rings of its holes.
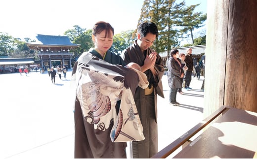
POLYGON ((38 34, 36 37, 36 42, 31 42, 28 44, 78 46, 77 44, 73 44, 68 36, 38 34))

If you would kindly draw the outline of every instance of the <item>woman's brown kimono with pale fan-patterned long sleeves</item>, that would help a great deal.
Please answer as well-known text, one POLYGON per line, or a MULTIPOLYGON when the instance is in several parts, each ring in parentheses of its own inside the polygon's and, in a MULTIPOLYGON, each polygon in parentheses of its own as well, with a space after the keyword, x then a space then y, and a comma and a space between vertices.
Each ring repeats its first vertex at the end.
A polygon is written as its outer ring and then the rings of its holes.
POLYGON ((76 94, 75 158, 126 158, 126 141, 144 139, 133 95, 138 85, 145 88, 148 82, 139 74, 89 52, 78 59, 71 81, 76 94))

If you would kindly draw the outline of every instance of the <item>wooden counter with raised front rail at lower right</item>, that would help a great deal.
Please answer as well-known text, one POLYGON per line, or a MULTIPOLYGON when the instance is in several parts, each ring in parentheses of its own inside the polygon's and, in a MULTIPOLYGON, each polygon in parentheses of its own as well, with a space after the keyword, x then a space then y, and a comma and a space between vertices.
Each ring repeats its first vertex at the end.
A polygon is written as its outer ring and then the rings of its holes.
POLYGON ((173 158, 256 158, 257 113, 221 106, 151 158, 167 158, 184 145, 173 158))

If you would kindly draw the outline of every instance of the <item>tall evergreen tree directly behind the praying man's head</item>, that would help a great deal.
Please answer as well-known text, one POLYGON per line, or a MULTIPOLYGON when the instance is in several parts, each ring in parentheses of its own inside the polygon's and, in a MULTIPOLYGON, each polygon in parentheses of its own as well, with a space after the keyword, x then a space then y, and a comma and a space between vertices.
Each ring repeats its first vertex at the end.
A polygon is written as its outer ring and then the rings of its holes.
POLYGON ((153 22, 157 25, 159 36, 153 49, 158 53, 167 50, 169 57, 171 46, 179 45, 176 19, 183 14, 181 11, 183 7, 185 7, 184 1, 176 4, 175 0, 144 0, 138 25, 143 22, 153 22))

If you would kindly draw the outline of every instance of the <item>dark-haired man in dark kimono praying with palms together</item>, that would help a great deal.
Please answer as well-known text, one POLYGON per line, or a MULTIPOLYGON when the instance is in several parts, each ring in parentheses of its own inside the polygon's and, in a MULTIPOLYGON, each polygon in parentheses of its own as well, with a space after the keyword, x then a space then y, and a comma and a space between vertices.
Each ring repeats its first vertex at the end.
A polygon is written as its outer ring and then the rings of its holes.
POLYGON ((137 29, 137 39, 121 55, 126 63, 139 64, 149 82, 146 89, 135 90, 134 100, 145 139, 132 142, 133 158, 151 158, 158 152, 157 95, 164 98, 164 65, 161 57, 150 48, 157 36, 154 23, 142 23, 137 29))

